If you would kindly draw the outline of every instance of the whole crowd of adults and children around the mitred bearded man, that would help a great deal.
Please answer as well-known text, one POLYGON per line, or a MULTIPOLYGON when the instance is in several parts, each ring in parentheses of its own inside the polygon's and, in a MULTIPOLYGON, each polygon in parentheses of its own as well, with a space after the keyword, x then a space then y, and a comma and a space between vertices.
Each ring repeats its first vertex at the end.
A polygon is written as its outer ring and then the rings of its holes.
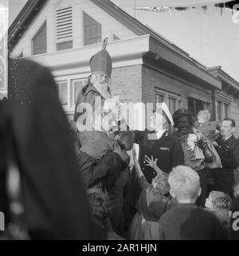
POLYGON ((70 124, 49 70, 10 60, 8 100, 0 104, 2 238, 239 238, 235 121, 211 121, 203 106, 197 116, 170 113, 163 102, 147 130, 131 129, 119 99, 108 104, 106 45, 90 59, 70 124), (110 125, 97 129, 90 119, 82 130, 82 103, 110 125))

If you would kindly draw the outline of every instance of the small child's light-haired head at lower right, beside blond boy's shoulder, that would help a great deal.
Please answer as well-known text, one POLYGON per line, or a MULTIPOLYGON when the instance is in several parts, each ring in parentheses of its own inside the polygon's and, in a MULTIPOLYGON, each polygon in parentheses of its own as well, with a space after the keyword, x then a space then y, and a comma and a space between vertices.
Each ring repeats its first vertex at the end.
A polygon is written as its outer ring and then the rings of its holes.
POLYGON ((211 191, 209 197, 206 199, 206 208, 213 211, 223 211, 229 214, 232 207, 232 199, 221 191, 211 191))

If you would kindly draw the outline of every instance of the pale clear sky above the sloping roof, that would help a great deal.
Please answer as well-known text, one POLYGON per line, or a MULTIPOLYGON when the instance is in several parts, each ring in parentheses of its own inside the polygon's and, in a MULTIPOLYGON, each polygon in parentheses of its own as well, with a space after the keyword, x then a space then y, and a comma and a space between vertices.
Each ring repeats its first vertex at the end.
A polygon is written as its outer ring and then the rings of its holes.
MULTIPOLYGON (((163 14, 134 11, 134 3, 137 6, 137 1, 139 0, 112 0, 203 65, 221 65, 225 72, 239 81, 239 23, 233 23, 231 10, 224 10, 222 16, 220 10, 215 8, 210 8, 206 14, 198 9, 163 14)), ((10 23, 25 2, 26 0, 9 0, 10 23)), ((147 1, 145 2, 147 6, 147 1)))

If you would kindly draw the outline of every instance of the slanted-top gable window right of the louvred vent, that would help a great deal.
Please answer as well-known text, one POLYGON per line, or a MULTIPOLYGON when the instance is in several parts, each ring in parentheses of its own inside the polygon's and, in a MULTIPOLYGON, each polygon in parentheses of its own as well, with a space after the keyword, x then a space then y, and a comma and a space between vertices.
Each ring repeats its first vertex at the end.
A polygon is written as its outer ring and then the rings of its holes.
POLYGON ((101 25, 83 12, 84 45, 94 45, 102 41, 101 25))

